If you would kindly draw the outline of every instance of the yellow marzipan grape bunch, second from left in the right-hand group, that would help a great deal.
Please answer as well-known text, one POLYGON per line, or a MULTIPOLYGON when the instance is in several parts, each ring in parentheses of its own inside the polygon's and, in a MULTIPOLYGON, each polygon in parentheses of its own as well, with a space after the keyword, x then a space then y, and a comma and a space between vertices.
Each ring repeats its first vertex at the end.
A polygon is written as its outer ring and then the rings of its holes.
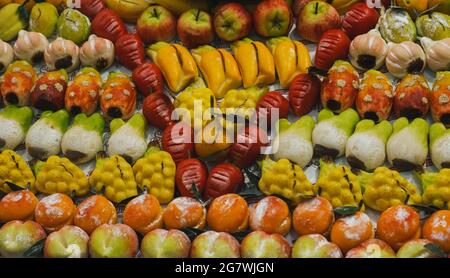
POLYGON ((330 201, 333 207, 352 206, 364 209, 358 177, 347 166, 320 160, 320 174, 314 191, 330 201))

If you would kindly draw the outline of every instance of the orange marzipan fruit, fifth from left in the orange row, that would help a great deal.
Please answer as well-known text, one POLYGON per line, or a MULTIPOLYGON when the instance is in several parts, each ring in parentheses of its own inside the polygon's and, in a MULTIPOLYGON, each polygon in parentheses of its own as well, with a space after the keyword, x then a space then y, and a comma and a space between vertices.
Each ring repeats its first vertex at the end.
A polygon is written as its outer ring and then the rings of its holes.
POLYGON ((194 198, 178 197, 164 209, 163 220, 167 229, 185 227, 203 229, 206 222, 206 209, 194 198))

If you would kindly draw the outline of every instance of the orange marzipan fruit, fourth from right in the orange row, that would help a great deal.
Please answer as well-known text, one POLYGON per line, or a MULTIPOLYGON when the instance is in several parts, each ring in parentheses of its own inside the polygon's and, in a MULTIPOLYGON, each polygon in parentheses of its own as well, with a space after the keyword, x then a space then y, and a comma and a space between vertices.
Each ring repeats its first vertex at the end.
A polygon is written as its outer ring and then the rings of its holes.
POLYGON ((293 223, 298 235, 327 234, 334 222, 331 203, 322 197, 301 202, 294 210, 293 223))

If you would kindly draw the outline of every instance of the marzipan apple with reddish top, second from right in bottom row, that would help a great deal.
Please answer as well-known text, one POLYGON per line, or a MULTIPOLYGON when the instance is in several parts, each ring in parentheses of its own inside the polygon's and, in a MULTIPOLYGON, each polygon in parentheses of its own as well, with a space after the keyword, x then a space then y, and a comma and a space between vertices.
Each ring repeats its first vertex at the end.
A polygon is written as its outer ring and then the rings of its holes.
POLYGON ((346 258, 395 258, 395 251, 384 241, 369 239, 347 252, 346 258))

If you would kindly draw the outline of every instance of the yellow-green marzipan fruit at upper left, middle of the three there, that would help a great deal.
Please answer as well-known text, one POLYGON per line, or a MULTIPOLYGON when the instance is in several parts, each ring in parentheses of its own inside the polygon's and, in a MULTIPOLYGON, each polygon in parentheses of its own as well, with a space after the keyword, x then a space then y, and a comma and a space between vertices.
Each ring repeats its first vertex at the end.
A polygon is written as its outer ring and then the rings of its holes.
POLYGON ((56 29, 58 10, 50 3, 37 3, 30 13, 30 31, 50 37, 56 29))

